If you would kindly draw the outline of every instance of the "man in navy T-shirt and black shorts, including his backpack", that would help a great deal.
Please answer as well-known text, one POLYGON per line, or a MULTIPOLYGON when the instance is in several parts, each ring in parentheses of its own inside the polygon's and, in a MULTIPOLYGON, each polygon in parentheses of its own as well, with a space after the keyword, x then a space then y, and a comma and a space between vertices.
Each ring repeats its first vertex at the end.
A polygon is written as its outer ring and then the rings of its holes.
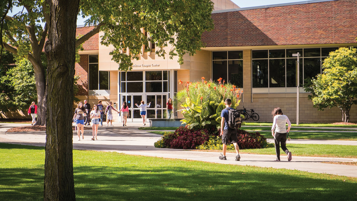
POLYGON ((235 160, 239 161, 241 157, 239 156, 239 147, 238 147, 238 143, 237 143, 237 141, 238 141, 237 128, 235 128, 235 127, 240 127, 240 124, 238 123, 238 116, 237 116, 237 124, 235 122, 235 119, 232 119, 235 116, 235 113, 237 113, 237 111, 235 109, 231 108, 231 104, 232 104, 231 99, 227 98, 225 100, 226 108, 223 109, 221 112, 222 119, 221 119, 221 134, 220 135, 222 136, 223 154, 221 153, 221 156, 219 157, 219 159, 227 160, 227 158, 226 158, 227 144, 229 141, 231 141, 234 145, 234 148, 236 149, 236 152, 237 152, 235 160), (230 118, 230 115, 231 115, 231 118, 230 118), (232 122, 230 122, 230 120, 232 122), (233 128, 230 128, 230 126, 233 128))

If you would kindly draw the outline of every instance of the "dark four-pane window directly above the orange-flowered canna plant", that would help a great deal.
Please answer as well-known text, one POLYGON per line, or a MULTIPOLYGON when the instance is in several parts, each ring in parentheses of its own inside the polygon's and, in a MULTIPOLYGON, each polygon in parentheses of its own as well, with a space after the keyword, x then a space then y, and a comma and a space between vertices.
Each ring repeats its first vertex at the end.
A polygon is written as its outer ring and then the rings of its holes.
POLYGON ((212 52, 212 79, 219 78, 243 88, 243 51, 212 52))

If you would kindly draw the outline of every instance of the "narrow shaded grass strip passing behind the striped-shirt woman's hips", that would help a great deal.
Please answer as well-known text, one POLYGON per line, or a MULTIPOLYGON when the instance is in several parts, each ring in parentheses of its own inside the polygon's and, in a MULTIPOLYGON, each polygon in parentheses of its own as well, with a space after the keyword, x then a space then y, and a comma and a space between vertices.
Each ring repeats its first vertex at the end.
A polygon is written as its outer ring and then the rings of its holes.
MULTIPOLYGON (((266 138, 273 138, 271 131, 259 131, 266 138)), ((291 139, 357 140, 357 132, 289 132, 291 139)))

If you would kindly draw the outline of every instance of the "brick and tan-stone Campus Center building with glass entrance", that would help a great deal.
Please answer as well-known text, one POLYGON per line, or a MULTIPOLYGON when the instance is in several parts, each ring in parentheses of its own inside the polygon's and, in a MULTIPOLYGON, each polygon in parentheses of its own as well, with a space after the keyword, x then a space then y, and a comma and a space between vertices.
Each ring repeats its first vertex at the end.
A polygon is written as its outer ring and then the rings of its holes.
MULTIPOLYGON (((255 109, 259 121, 272 121, 272 109, 281 107, 295 122, 297 58, 292 54, 299 52, 300 122, 341 121, 338 108, 313 108, 302 86, 304 79, 322 72, 322 61, 329 52, 357 46, 357 0, 312 0, 251 8, 222 2, 216 0, 212 12, 215 29, 202 35, 206 47, 192 57, 185 55, 182 65, 177 57, 158 57, 153 46, 151 52, 132 61, 131 72, 120 72, 109 55, 113 47, 101 45, 102 33, 96 34, 85 42, 81 61, 76 64, 76 75, 81 77, 78 97, 88 99, 91 105, 102 100, 106 106, 111 100, 116 108, 126 101, 132 107, 128 121, 141 121, 134 103, 151 101, 147 117, 164 118, 167 99, 180 90, 178 79, 194 82, 201 77, 222 77, 243 89, 239 107, 255 109)), ((90 29, 79 27, 77 34, 90 29)), ((350 121, 356 122, 356 106, 350 114, 350 121)), ((120 114, 114 118, 121 120, 120 114)))

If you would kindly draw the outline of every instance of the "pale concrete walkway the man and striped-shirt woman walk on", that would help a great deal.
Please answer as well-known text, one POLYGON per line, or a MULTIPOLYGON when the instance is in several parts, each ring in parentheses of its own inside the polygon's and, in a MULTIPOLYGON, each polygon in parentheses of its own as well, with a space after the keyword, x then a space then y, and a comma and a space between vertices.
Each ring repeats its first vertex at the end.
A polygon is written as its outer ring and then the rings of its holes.
MULTIPOLYGON (((357 177, 356 166, 321 163, 323 161, 357 162, 357 158, 325 158, 325 157, 299 157, 293 156, 288 162, 286 157, 281 157, 281 162, 274 162, 274 155, 241 154, 241 161, 235 161, 234 153, 227 153, 227 160, 218 159, 217 152, 188 151, 182 149, 160 149, 154 147, 154 142, 161 135, 140 131, 140 123, 127 123, 122 127, 120 123, 114 123, 114 127, 99 127, 98 140, 92 141, 91 130, 85 130, 84 140, 77 141, 77 133, 73 135, 74 149, 92 149, 98 151, 115 151, 120 153, 144 156, 156 156, 164 158, 179 158, 205 162, 252 165, 259 167, 287 168, 316 173, 328 173, 357 177)), ((5 133, 7 129, 16 126, 28 126, 28 124, 4 124, 0 123, 0 142, 29 144, 34 146, 45 145, 45 132, 14 132, 5 133)), ((302 141, 303 142, 303 141, 302 141)), ((348 141, 351 142, 351 141, 348 141)), ((291 143, 288 142, 288 143, 291 143)))

